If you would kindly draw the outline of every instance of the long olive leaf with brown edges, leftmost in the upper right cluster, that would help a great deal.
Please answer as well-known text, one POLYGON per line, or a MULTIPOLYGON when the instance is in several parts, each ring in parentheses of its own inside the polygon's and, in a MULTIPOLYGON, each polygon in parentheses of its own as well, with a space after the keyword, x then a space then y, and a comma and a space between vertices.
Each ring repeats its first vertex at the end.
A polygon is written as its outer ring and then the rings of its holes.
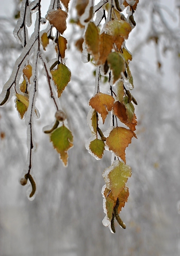
POLYGON ((94 24, 94 22, 89 22, 87 26, 85 42, 88 53, 92 54, 94 61, 97 61, 99 59, 100 35, 98 27, 94 24))

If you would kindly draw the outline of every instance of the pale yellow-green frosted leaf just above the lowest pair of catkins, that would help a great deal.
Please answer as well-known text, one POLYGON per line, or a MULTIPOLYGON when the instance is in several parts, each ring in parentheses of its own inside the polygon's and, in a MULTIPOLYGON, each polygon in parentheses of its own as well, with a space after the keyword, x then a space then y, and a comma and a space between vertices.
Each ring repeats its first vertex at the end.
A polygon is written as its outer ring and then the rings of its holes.
MULTIPOLYGON (((104 170, 103 177, 106 182, 106 187, 112 191, 112 196, 114 197, 114 201, 117 200, 117 197, 122 194, 124 198, 127 197, 127 191, 121 193, 123 188, 125 187, 128 178, 131 177, 131 167, 125 165, 121 161, 114 161, 113 164, 107 167, 104 170), (121 193, 121 194, 120 194, 121 193), (123 195, 124 194, 124 195, 123 195)), ((127 189, 125 189, 127 190, 127 189)), ((111 198, 113 200, 113 198, 111 198)), ((125 199, 127 200, 127 199, 125 199)), ((121 199, 120 199, 121 201, 121 199)), ((121 203, 122 205, 122 203, 121 203)), ((120 208, 119 208, 120 209, 120 208)))

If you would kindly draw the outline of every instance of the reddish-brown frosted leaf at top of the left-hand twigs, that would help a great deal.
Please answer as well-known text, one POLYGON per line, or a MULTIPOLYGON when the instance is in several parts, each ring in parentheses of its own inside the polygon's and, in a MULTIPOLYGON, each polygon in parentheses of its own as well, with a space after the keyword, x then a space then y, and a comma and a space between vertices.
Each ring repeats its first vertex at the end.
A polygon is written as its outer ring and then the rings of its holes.
POLYGON ((50 11, 46 19, 49 20, 50 24, 53 25, 59 33, 63 34, 66 30, 66 18, 67 13, 61 9, 50 11))

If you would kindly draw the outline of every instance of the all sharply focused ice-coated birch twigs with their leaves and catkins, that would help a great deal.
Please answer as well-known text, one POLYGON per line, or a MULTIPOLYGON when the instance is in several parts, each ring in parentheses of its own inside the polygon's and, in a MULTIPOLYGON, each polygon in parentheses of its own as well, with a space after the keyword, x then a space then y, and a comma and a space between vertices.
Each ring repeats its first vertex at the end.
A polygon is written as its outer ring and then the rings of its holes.
MULTIPOLYGON (((125 88, 125 85, 129 89, 134 88, 133 77, 129 69, 129 61, 132 60, 132 56, 125 47, 125 39, 136 25, 133 13, 138 2, 139 0, 103 0, 94 6, 94 1, 77 0, 77 17, 71 19, 71 22, 79 25, 84 33, 84 37, 79 38, 75 43, 77 48, 82 51, 82 60, 88 62, 92 57, 91 60, 97 67, 95 94, 89 100, 89 106, 92 109, 88 113, 88 124, 92 131, 92 137, 86 143, 86 147, 97 159, 103 157, 105 149, 110 150, 114 156, 112 165, 106 168, 103 174, 106 182, 103 187, 104 211, 106 213, 103 224, 109 226, 112 232, 115 232, 115 218, 122 228, 125 228, 125 224, 119 217, 119 212, 129 196, 126 182, 131 176, 131 168, 126 165, 125 149, 131 143, 132 137, 136 137, 134 131, 137 121, 133 103, 137 104, 137 102, 130 91, 125 88), (126 18, 122 13, 124 9, 127 12, 126 18), (95 14, 96 18, 94 19, 95 14), (99 25, 103 19, 105 23, 100 31, 99 25), (111 95, 100 92, 100 75, 109 80, 111 95), (104 124, 109 112, 112 113, 111 126, 103 134, 99 127, 99 119, 102 118, 104 124), (117 118, 129 129, 119 127, 117 118)), ((15 106, 19 117, 25 119, 27 125, 28 157, 20 183, 26 185, 29 180, 32 192, 30 195, 28 194, 28 197, 32 199, 36 194, 36 184, 32 177, 33 151, 35 149, 33 120, 34 117, 40 117, 38 109, 35 107, 38 94, 38 60, 43 65, 50 97, 56 109, 54 123, 45 127, 44 132, 49 133, 50 141, 60 154, 64 166, 68 164, 67 152, 73 147, 73 135, 68 129, 66 115, 61 110, 58 100, 71 79, 71 72, 65 64, 67 40, 62 36, 67 28, 68 4, 69 0, 61 0, 61 2, 51 0, 47 15, 42 18, 41 0, 34 0, 31 3, 29 0, 22 0, 21 10, 16 17, 19 19, 13 33, 17 41, 22 44, 23 51, 0 95, 0 106, 5 106, 15 95, 15 106), (28 27, 32 25, 33 13, 36 13, 35 29, 29 39, 28 27), (40 31, 40 24, 46 22, 48 23, 46 29, 40 31), (50 40, 56 58, 47 63, 44 53, 50 40), (32 55, 33 64, 31 64, 32 55)))

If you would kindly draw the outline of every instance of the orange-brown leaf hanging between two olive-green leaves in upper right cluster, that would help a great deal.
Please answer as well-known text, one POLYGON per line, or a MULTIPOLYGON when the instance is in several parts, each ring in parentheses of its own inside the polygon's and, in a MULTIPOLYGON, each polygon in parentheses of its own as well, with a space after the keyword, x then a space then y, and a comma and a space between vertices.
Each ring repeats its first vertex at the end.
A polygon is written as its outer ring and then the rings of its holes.
POLYGON ((111 52, 113 42, 114 40, 112 36, 105 33, 100 35, 99 60, 97 65, 105 63, 108 54, 111 52))

